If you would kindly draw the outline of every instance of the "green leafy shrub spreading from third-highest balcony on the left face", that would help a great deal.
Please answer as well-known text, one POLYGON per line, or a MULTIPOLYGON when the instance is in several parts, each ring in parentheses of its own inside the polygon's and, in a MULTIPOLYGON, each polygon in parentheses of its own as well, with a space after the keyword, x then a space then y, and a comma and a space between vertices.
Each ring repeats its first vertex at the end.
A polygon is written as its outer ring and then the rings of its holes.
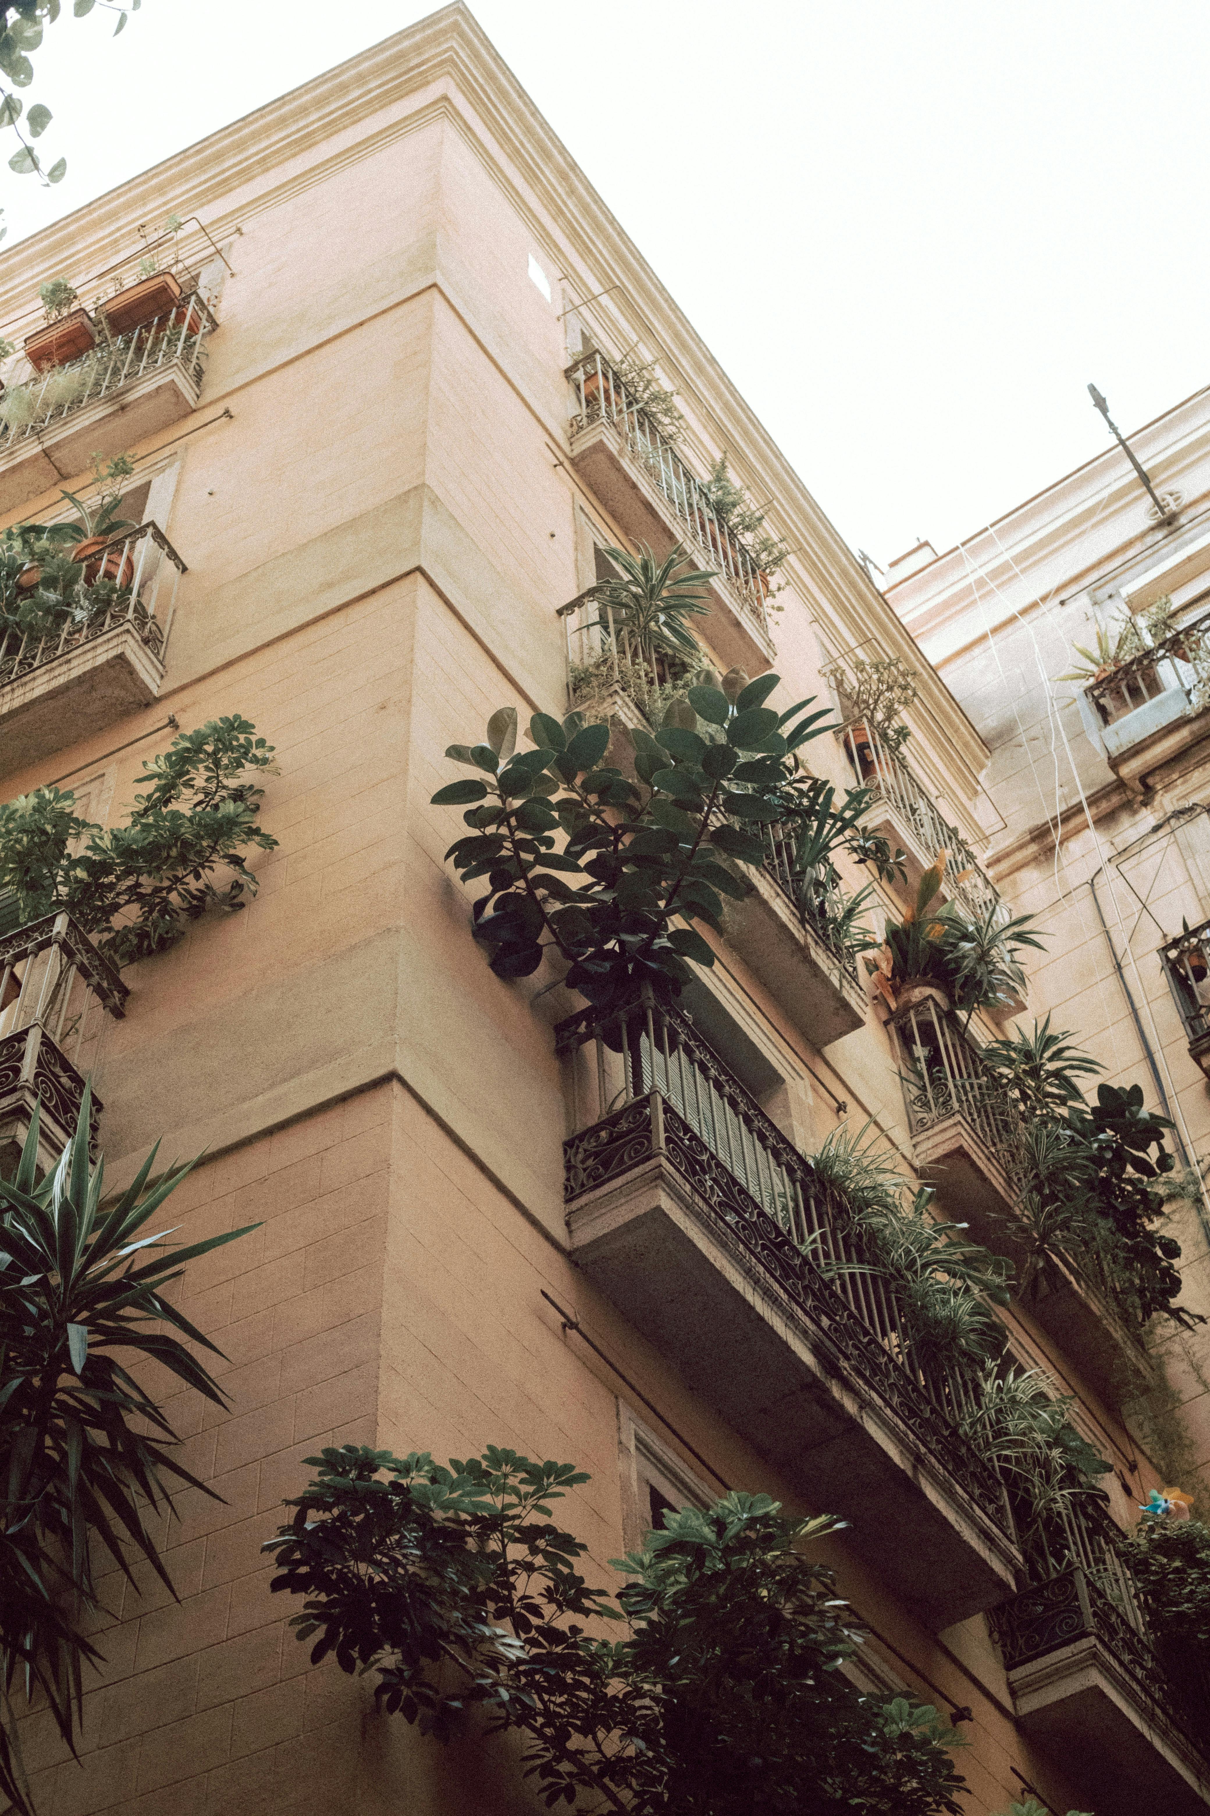
POLYGON ((147 792, 123 826, 80 819, 71 792, 36 788, 0 806, 0 892, 18 924, 65 908, 114 964, 172 946, 189 921, 245 906, 256 893, 254 850, 278 841, 258 824, 254 781, 272 745, 247 719, 210 719, 180 732, 143 763, 147 792), (227 870, 220 888, 214 873, 227 870))

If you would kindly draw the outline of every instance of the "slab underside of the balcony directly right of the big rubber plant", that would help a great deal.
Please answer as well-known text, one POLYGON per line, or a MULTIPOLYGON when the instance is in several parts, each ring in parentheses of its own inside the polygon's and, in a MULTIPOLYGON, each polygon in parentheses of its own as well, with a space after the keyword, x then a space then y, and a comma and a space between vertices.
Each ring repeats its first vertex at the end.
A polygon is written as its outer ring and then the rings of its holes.
POLYGON ((751 895, 727 904, 726 939, 813 1046, 829 1046, 865 1021, 865 992, 804 926, 782 890, 749 872, 751 895))

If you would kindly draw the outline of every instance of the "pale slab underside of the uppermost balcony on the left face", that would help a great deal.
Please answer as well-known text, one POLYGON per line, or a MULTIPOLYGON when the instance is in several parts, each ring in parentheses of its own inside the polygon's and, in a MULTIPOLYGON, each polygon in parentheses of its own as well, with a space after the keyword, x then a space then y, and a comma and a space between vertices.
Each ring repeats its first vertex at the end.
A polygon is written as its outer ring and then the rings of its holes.
POLYGON ((174 360, 42 429, 0 441, 0 512, 85 472, 93 454, 109 459, 189 416, 198 380, 174 360))

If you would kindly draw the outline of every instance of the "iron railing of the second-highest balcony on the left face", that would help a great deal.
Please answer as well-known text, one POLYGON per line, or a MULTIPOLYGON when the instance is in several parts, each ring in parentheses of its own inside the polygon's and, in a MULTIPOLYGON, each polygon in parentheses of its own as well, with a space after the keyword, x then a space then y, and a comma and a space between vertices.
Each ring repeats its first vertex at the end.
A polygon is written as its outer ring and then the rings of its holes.
POLYGON ((0 688, 111 630, 129 627, 163 661, 185 563, 154 523, 89 552, 83 577, 47 630, 0 630, 0 688))

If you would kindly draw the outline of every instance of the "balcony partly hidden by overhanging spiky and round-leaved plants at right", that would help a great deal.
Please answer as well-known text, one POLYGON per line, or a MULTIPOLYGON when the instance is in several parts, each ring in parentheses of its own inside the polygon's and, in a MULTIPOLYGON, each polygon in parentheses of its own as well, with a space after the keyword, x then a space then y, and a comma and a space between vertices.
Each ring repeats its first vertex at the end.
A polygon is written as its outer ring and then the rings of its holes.
MULTIPOLYGON (((1016 1215, 1020 1122, 949 1010, 932 999, 903 1006, 891 1030, 920 1177, 934 1186, 945 1217, 967 1224, 1020 1275, 1030 1258, 1016 1215)), ((1052 1260, 1027 1308, 1099 1393, 1117 1398, 1156 1386, 1154 1364, 1114 1309, 1096 1255, 1052 1260)))

